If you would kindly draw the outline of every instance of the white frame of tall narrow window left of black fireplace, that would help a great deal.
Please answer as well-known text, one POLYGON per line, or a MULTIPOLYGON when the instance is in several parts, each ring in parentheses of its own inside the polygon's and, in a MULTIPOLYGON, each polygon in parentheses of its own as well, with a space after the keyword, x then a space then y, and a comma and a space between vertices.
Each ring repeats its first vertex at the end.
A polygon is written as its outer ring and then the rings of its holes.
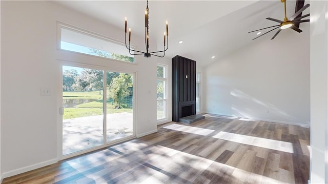
MULTIPOLYGON (((167 99, 168 99, 168 66, 167 65, 163 65, 163 64, 157 64, 156 65, 156 71, 157 71, 157 67, 163 67, 163 77, 158 77, 157 74, 156 74, 156 84, 157 84, 157 81, 164 81, 164 86, 163 86, 163 98, 159 98, 157 99, 156 98, 156 120, 157 122, 158 121, 162 121, 162 120, 165 120, 165 119, 168 119, 168 106, 167 106, 167 99), (159 118, 157 119, 157 103, 158 101, 163 101, 163 104, 164 104, 164 116, 162 118, 159 118)), ((157 73, 157 72, 156 72, 157 73)), ((156 89, 156 94, 157 94, 157 89, 156 89)))

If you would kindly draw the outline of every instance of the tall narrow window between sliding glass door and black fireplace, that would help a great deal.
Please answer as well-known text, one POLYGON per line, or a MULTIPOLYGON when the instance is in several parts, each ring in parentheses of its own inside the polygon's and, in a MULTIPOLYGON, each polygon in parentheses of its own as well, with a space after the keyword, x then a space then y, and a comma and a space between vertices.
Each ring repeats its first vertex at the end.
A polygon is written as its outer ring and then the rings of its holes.
POLYGON ((157 120, 166 119, 167 116, 167 66, 157 65, 157 120))

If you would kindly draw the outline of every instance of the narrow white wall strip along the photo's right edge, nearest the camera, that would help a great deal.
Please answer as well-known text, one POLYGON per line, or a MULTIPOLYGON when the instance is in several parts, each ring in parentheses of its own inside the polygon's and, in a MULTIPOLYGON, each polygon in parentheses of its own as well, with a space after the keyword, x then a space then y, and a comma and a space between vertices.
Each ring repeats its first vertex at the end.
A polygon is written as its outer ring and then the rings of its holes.
POLYGON ((311 183, 328 183, 328 3, 311 1, 311 183))

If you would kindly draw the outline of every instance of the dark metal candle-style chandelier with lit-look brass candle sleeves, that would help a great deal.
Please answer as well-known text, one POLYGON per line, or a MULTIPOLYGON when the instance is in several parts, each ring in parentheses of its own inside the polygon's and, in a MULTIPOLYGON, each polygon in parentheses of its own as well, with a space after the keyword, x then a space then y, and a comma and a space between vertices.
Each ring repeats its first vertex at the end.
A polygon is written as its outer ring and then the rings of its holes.
POLYGON ((145 45, 146 45, 146 52, 137 51, 130 48, 130 42, 131 42, 131 28, 129 28, 129 47, 127 45, 127 17, 125 17, 125 46, 127 49, 129 49, 129 53, 131 55, 142 55, 144 54, 145 57, 150 57, 151 55, 157 56, 157 57, 164 57, 165 51, 169 48, 169 27, 168 22, 166 22, 166 32, 164 32, 164 49, 161 51, 155 51, 155 52, 149 52, 149 8, 148 8, 148 0, 147 0, 147 7, 145 11, 145 45), (165 44, 165 41, 167 40, 167 46, 165 44), (133 53, 131 53, 131 51, 133 53), (137 53, 135 53, 137 52, 137 53), (157 55, 157 53, 163 52, 163 55, 157 55), (156 53, 156 54, 155 54, 156 53))

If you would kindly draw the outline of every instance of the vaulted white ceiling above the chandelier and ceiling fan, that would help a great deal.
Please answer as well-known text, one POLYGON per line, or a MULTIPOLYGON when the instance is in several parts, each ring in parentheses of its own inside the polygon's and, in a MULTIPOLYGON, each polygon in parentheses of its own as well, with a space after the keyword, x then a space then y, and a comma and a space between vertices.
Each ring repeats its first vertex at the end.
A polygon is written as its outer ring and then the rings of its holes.
MULTIPOLYGON (((56 1, 68 8, 90 15, 100 21, 122 29, 128 17, 128 27, 134 34, 144 36, 146 1, 56 1)), ((305 4, 308 4, 305 1, 305 4)), ((295 12, 296 1, 286 1, 287 16, 295 12)), ((310 8, 303 15, 310 12, 310 8)), ((301 23, 302 33, 287 29, 271 40, 276 31, 252 40, 256 29, 278 25, 265 18, 283 20, 283 4, 274 1, 149 1, 150 39, 156 39, 158 48, 163 46, 165 22, 169 22, 169 50, 166 57, 185 56, 205 66, 245 47, 259 39, 281 42, 280 34, 310 34, 309 23, 301 23), (182 44, 178 44, 183 40, 182 44), (214 59, 211 57, 215 56, 214 59)), ((309 17, 310 18, 310 17, 309 17)), ((262 30, 264 33, 267 30, 262 30)), ((297 40, 295 40, 297 42, 297 40)), ((151 50, 156 50, 152 48, 151 50)))

